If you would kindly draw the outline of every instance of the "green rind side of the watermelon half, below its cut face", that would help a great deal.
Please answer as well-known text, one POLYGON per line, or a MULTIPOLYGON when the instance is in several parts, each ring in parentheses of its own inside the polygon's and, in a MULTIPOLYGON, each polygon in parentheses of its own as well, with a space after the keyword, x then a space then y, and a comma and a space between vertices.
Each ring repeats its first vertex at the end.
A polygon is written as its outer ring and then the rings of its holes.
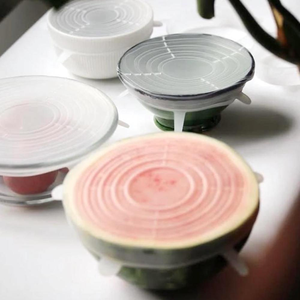
POLYGON ((82 243, 97 260, 105 256, 124 264, 118 273, 120 278, 145 289, 170 290, 200 283, 220 271, 226 262, 218 253, 228 247, 234 247, 236 250, 242 248, 252 230, 258 210, 259 208, 245 223, 232 232, 205 244, 180 249, 125 247, 95 238, 74 223, 72 225, 82 243), (199 262, 189 264, 189 259, 198 259, 199 262), (178 265, 180 262, 186 265, 176 268, 157 267, 159 263, 178 265), (135 266, 126 266, 126 264, 135 266), (136 267, 136 265, 140 266, 136 267), (156 267, 149 267, 152 265, 156 267))

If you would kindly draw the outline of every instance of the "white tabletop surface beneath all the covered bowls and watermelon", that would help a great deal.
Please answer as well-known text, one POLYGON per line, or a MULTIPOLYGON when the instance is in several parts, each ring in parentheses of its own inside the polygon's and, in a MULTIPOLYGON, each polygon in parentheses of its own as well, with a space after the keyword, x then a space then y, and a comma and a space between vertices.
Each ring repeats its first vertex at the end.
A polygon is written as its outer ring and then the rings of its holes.
MULTIPOLYGON (((149 2, 155 18, 163 20, 194 5, 177 0, 170 10, 170 1, 149 2)), ((154 31, 154 35, 164 33, 164 27, 154 31)), ((116 100, 124 90, 119 79, 82 79, 56 62, 45 16, 0 57, 0 78, 20 75, 74 78, 107 93, 120 119, 131 126, 118 127, 110 141, 159 131, 152 114, 133 96, 116 100)), ((208 135, 236 149, 265 178, 259 216, 241 253, 247 260, 264 255, 300 192, 300 89, 269 85, 254 77, 244 92, 252 104, 235 101, 208 135)), ((152 293, 117 277, 101 277, 95 260, 67 225, 59 202, 34 208, 0 206, 0 299, 188 300, 199 294, 152 293)))

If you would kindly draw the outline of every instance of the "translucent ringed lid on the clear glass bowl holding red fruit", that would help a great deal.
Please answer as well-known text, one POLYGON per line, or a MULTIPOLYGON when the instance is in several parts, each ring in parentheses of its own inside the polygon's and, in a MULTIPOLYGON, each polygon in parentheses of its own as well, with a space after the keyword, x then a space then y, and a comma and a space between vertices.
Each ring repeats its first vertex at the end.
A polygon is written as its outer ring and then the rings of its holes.
POLYGON ((117 112, 98 89, 71 79, 0 80, 0 174, 72 164, 115 130, 117 112))

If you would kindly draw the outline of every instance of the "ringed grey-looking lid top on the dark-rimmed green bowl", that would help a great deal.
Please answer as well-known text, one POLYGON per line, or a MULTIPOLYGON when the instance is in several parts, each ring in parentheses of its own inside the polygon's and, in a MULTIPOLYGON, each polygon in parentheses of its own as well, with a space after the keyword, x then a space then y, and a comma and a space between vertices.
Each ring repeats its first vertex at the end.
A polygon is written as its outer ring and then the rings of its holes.
POLYGON ((234 41, 205 34, 152 38, 129 49, 118 73, 125 85, 150 95, 214 93, 253 76, 254 60, 234 41))

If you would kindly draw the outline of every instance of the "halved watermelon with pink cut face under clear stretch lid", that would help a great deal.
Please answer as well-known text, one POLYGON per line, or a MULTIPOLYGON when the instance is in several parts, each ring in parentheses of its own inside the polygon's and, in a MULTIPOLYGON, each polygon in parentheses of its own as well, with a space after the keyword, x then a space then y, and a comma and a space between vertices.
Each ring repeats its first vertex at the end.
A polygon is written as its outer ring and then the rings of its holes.
POLYGON ((149 289, 199 283, 239 250, 259 208, 256 177, 226 144, 164 132, 115 143, 73 168, 67 218, 97 259, 149 289))

